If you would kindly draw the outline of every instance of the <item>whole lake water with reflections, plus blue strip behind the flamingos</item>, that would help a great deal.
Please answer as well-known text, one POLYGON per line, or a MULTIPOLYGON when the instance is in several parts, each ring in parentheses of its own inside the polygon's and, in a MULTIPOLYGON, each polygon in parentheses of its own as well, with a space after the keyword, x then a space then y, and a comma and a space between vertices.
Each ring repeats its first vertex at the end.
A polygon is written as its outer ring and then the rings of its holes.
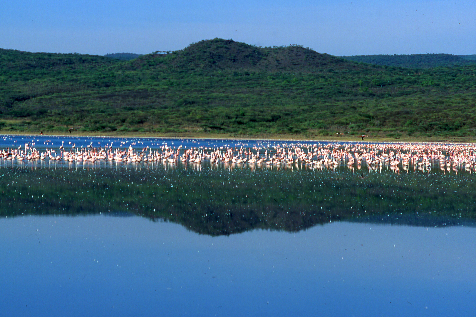
POLYGON ((471 169, 0 163, 1 316, 473 316, 471 169))

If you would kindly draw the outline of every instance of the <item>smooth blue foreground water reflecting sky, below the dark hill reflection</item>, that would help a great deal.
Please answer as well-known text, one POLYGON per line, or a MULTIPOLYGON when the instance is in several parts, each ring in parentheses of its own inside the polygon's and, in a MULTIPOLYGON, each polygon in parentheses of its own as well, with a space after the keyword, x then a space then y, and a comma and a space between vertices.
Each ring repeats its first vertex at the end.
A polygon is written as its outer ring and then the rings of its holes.
POLYGON ((3 316, 471 316, 476 300, 475 228, 333 222, 210 237, 97 215, 0 230, 3 316))

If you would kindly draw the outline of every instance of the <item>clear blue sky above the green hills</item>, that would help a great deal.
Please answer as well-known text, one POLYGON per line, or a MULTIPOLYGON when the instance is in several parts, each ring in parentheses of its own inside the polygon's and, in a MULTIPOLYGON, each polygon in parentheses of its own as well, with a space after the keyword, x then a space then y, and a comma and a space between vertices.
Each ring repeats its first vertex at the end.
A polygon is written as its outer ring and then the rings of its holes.
POLYGON ((335 56, 476 54, 475 0, 10 0, 0 48, 104 55, 211 38, 335 56))

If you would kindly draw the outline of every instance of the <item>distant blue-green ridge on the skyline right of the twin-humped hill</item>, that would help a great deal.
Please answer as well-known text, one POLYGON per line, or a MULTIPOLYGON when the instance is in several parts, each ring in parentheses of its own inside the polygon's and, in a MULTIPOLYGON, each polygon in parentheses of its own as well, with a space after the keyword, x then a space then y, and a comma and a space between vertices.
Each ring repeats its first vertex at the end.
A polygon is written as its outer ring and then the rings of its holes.
POLYGON ((341 56, 354 62, 405 68, 455 67, 476 64, 474 55, 411 54, 341 56))

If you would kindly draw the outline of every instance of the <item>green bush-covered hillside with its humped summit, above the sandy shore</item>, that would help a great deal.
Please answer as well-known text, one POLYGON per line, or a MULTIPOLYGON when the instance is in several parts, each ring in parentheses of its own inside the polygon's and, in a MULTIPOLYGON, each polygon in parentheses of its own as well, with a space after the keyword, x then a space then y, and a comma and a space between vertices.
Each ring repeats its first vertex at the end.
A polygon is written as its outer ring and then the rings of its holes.
POLYGON ((0 50, 0 132, 476 135, 476 66, 203 40, 129 61, 0 50))

